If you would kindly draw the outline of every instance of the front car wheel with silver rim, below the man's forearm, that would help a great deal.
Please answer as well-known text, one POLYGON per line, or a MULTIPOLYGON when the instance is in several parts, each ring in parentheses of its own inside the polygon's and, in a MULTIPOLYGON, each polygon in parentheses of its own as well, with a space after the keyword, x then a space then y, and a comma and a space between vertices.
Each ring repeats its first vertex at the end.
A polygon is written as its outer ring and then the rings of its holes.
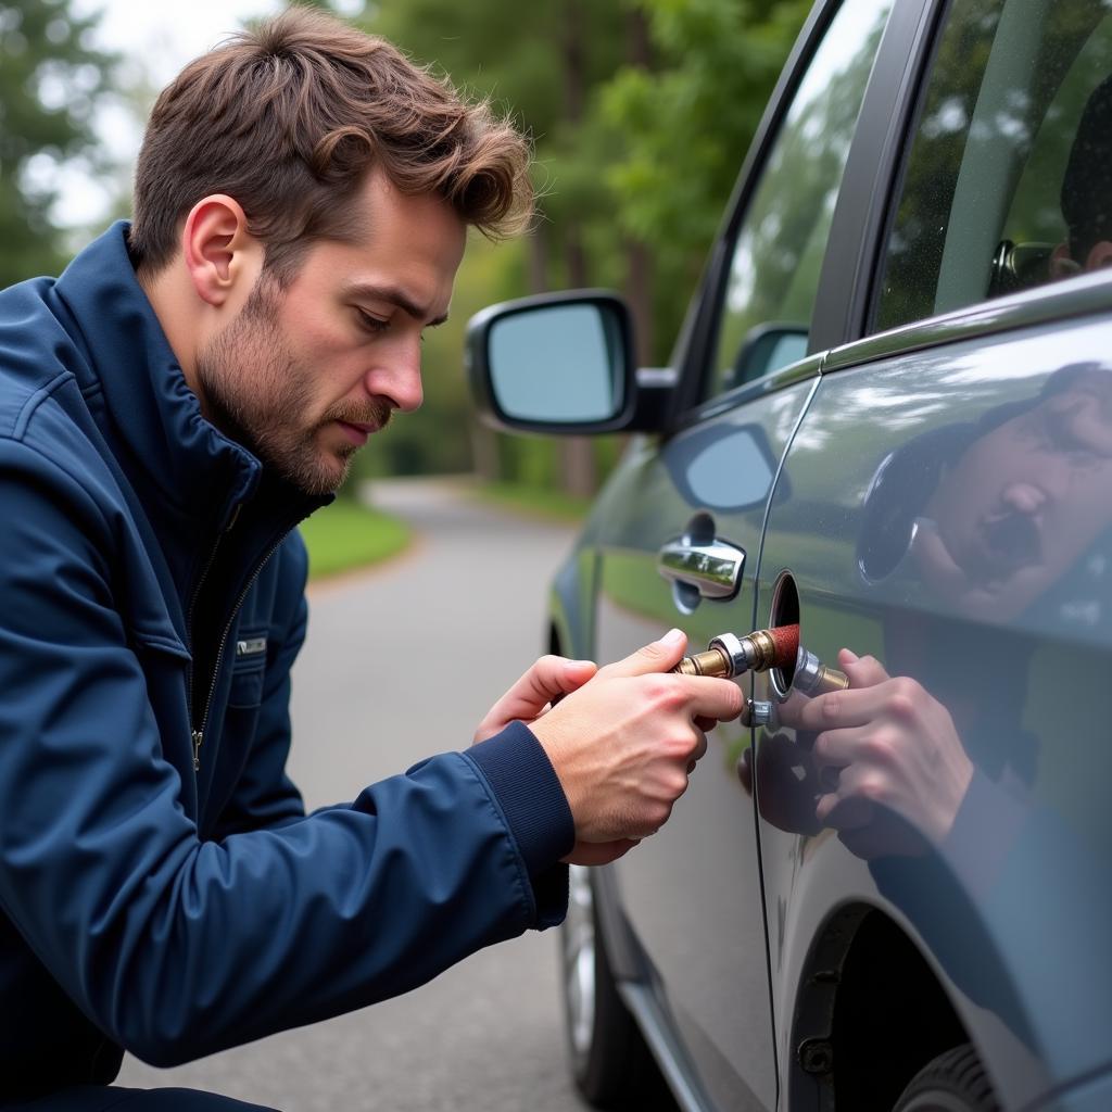
POLYGON ((576 1086, 598 1109, 671 1112, 675 1102, 618 994, 598 930, 589 870, 569 870, 560 929, 564 1027, 576 1086))

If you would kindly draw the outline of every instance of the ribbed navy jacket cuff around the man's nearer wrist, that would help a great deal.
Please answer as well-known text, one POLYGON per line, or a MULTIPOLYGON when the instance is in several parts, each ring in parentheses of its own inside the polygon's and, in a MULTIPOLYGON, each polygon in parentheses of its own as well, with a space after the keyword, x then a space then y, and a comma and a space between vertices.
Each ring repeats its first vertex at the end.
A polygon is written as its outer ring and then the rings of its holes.
POLYGON ((529 871, 540 911, 538 878, 575 845, 575 821, 556 770, 533 732, 520 722, 512 722, 500 734, 473 745, 467 755, 498 800, 529 871))

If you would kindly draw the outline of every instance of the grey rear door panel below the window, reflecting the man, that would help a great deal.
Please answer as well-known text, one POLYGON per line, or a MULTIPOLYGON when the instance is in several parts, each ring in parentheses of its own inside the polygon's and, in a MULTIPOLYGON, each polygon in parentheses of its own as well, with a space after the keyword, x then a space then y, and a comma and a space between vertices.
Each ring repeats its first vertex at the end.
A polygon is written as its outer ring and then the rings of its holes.
MULTIPOLYGON (((1007 331, 1026 311, 921 327, 925 350, 856 368, 854 349, 835 354, 845 369, 824 375, 787 454, 757 590, 759 623, 790 569, 807 648, 911 681, 973 767, 957 798, 940 764, 840 832, 815 820, 815 735, 777 702, 756 782, 781 1054, 833 883, 915 937, 1009 1108, 1112 1058, 1108 320, 1007 331), (939 344, 946 328, 966 338, 939 344)), ((930 748, 922 719, 903 741, 930 748)))

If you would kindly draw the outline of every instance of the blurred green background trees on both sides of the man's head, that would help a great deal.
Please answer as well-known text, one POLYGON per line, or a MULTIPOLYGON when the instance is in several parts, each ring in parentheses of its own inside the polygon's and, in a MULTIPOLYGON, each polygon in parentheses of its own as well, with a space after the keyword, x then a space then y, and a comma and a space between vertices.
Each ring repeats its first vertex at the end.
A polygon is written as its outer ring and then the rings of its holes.
MULTIPOLYGON (((113 59, 71 0, 0 0, 0 282, 57 270, 60 168, 90 159, 113 59)), ((110 2, 110 0, 109 0, 110 2)), ((329 7, 316 0, 318 7, 329 7)), ((614 438, 546 440, 478 428, 464 326, 547 289, 624 292, 643 365, 667 361, 749 140, 811 0, 365 0, 353 14, 415 60, 489 98, 533 137, 539 219, 504 245, 476 237, 451 319, 428 334, 426 403, 360 454, 363 474, 477 470, 589 494, 614 438)))

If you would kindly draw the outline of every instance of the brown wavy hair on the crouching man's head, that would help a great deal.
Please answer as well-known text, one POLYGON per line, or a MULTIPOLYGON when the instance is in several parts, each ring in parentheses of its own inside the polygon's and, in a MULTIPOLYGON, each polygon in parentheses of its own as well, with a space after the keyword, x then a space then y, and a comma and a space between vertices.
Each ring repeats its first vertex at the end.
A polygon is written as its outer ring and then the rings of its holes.
POLYGON ((385 39, 291 8, 197 58, 159 96, 129 244, 153 276, 193 205, 227 193, 285 280, 312 241, 364 230, 350 200, 371 168, 500 238, 530 218, 528 166, 527 139, 488 102, 465 102, 385 39))

